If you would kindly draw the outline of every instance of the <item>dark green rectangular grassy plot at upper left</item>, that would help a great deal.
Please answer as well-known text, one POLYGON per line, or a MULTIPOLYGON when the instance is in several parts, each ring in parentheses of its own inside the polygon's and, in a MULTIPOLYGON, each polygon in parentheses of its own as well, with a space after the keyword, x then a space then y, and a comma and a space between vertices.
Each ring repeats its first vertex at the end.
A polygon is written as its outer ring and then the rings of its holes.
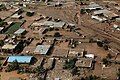
POLYGON ((15 31, 17 31, 21 27, 20 22, 13 23, 10 28, 5 32, 5 34, 13 34, 15 31))

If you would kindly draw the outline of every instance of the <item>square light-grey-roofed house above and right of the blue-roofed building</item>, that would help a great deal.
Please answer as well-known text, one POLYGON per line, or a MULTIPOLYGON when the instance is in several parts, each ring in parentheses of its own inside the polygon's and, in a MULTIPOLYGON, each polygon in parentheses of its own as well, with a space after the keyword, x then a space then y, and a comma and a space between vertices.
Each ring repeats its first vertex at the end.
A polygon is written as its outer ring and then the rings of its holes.
POLYGON ((34 51, 35 54, 46 55, 50 51, 51 45, 38 45, 34 51))

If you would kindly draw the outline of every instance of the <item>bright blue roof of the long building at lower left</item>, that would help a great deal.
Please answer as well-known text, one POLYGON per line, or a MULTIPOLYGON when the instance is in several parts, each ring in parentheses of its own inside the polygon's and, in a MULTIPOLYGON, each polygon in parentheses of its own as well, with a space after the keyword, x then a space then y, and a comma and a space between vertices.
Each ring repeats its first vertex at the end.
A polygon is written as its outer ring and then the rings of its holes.
POLYGON ((33 56, 9 56, 7 62, 30 63, 33 56))

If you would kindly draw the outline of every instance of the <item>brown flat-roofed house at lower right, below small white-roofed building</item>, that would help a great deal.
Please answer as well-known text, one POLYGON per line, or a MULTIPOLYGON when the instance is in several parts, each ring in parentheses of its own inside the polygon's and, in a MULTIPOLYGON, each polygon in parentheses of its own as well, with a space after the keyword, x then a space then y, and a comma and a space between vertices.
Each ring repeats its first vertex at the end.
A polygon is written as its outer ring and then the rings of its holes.
POLYGON ((91 68, 93 60, 90 58, 79 58, 75 65, 79 68, 91 68))

